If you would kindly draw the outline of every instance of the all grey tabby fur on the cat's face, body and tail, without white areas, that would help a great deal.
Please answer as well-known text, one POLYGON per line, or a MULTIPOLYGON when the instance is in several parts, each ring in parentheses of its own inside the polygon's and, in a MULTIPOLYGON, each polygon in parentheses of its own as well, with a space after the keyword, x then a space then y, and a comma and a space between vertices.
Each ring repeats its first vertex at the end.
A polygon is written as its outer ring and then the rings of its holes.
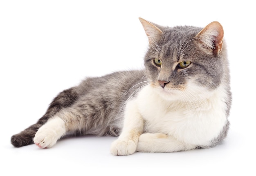
MULTIPOLYGON (((145 70, 123 71, 99 78, 87 78, 80 85, 61 92, 36 124, 11 137, 13 146, 32 144, 38 128, 52 116, 63 112, 72 113, 76 117, 76 120, 72 118, 66 121, 66 123, 76 124, 76 129, 70 129, 70 134, 118 136, 128 98, 136 96, 140 87, 149 82, 157 82, 159 70, 152 65, 154 58, 165 62, 165 74, 162 78, 171 82, 173 86, 186 85, 188 79, 195 79, 198 85, 207 87, 209 90, 224 84, 229 96, 225 100, 228 116, 231 93, 225 44, 218 55, 213 52, 204 52, 198 45, 198 39, 195 38, 202 28, 156 26, 163 33, 155 40, 154 45, 149 45, 144 58, 145 70), (193 67, 186 71, 178 71, 175 64, 181 59, 190 60, 193 67)), ((212 139, 213 145, 220 143, 227 136, 228 127, 229 121, 220 131, 218 138, 212 139)))

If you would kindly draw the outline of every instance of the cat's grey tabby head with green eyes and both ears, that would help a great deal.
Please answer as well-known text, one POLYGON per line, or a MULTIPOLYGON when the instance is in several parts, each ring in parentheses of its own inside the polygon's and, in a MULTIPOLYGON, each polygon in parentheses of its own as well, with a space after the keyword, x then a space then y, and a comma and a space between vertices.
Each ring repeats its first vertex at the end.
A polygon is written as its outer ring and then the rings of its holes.
POLYGON ((149 41, 146 76, 164 98, 208 96, 227 77, 224 31, 219 22, 204 28, 171 28, 139 20, 149 41))

